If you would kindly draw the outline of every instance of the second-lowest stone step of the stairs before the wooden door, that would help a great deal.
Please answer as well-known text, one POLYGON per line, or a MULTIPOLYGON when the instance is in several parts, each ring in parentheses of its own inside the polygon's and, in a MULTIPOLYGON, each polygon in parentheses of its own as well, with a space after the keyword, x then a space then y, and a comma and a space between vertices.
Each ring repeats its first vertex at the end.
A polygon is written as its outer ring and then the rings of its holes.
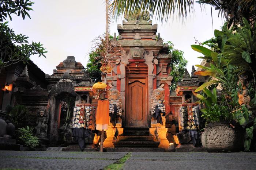
POLYGON ((118 141, 118 142, 113 142, 114 147, 138 147, 138 148, 143 148, 143 147, 157 148, 159 143, 160 143, 159 141, 118 141))

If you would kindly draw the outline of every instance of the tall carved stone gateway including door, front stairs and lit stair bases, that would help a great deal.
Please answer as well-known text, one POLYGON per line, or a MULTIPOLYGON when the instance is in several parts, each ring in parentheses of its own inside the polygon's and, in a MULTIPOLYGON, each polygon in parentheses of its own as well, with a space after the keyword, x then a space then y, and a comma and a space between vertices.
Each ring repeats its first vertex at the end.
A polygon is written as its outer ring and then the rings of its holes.
POLYGON ((125 20, 123 25, 117 26, 118 39, 116 35, 113 37, 117 58, 112 71, 107 74, 109 88, 117 89, 121 94, 123 130, 117 130, 116 140, 112 138, 113 146, 105 146, 168 148, 165 116, 162 116, 162 124, 152 124, 150 116, 152 94, 157 88, 163 89, 161 95, 166 102, 162 105, 166 115, 170 113, 172 76, 169 76, 171 54, 168 45, 163 44, 160 34, 157 36, 157 24, 152 25, 147 13, 125 16, 125 20))

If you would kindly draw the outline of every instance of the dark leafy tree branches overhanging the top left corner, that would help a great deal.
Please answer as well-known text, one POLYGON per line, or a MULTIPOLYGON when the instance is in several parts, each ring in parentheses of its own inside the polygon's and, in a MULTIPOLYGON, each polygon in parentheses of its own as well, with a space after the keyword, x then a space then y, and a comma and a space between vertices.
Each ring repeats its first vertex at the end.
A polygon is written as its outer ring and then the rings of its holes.
MULTIPOLYGON (((25 16, 30 18, 27 11, 33 10, 29 7, 32 4, 29 0, 0 0, 0 22, 6 20, 7 15, 11 20, 11 14, 21 14, 23 19, 25 16)), ((30 44, 28 36, 15 34, 7 24, 8 22, 0 23, 0 71, 18 62, 26 63, 31 55, 45 57, 47 51, 40 42, 30 44)))

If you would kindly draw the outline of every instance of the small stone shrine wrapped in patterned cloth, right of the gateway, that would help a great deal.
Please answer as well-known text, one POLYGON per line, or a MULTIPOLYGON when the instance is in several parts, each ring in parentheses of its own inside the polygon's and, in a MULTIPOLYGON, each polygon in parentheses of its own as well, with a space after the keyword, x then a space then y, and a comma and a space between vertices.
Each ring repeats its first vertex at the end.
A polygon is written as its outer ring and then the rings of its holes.
POLYGON ((182 81, 178 82, 176 88, 177 96, 182 96, 178 116, 179 132, 174 136, 175 142, 179 144, 177 148, 180 148, 182 144, 187 145, 189 143, 193 143, 194 147, 200 147, 199 135, 197 134, 200 125, 200 111, 193 91, 202 84, 202 80, 194 75, 195 71, 195 67, 192 66, 190 76, 186 69, 182 81))

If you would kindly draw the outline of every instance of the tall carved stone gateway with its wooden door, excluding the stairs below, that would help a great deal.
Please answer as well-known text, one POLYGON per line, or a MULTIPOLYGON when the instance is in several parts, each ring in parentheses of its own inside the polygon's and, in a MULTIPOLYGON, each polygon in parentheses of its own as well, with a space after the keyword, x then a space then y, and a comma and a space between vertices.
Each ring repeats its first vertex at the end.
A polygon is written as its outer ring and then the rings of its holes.
POLYGON ((150 128, 150 98, 154 89, 165 89, 166 114, 170 113, 167 101, 172 80, 168 67, 171 54, 160 34, 157 36, 157 24, 152 24, 146 13, 125 16, 125 20, 117 26, 118 39, 114 35, 112 40, 117 44, 114 51, 120 57, 107 75, 107 84, 121 93, 122 126, 150 128))

